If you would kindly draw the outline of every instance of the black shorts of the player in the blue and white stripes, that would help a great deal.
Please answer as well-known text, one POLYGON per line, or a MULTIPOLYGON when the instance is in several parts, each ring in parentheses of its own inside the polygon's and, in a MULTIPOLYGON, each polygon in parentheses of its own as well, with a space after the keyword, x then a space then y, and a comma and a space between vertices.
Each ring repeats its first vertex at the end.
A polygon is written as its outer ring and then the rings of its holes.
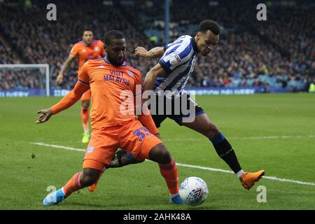
POLYGON ((151 101, 148 108, 151 111, 151 116, 154 120, 155 126, 160 127, 163 120, 171 118, 179 125, 183 125, 185 118, 190 116, 198 116, 205 113, 204 110, 193 100, 189 94, 182 94, 181 97, 169 99, 165 96, 158 97, 151 101), (154 105, 155 107, 154 107, 154 105), (192 111, 190 111, 190 108, 192 111))

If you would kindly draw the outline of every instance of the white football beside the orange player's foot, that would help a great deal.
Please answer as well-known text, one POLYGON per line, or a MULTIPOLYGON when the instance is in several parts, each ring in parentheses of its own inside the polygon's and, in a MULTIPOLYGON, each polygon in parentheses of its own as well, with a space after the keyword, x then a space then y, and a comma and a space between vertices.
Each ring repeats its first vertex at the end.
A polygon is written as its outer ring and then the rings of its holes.
POLYGON ((200 205, 209 195, 207 183, 197 176, 190 176, 179 186, 179 195, 185 204, 200 205))

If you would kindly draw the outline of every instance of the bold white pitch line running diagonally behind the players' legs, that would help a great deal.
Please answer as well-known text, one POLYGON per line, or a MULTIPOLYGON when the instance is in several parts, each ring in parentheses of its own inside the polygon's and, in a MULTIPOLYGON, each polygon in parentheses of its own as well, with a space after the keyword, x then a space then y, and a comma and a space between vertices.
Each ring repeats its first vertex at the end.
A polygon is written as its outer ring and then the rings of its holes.
MULTIPOLYGON (((62 148, 62 149, 69 150, 69 151, 81 151, 81 152, 85 151, 85 149, 82 149, 82 148, 72 148, 72 147, 67 147, 67 146, 57 146, 57 145, 52 145, 52 144, 45 144, 43 142, 30 142, 30 144, 34 144, 34 145, 37 145, 37 146, 47 146, 47 147, 52 147, 52 148, 62 148)), ((148 161, 150 161, 150 160, 148 160, 148 161)), ((225 169, 216 169, 216 168, 211 168, 211 167, 202 167, 202 166, 188 165, 188 164, 183 164, 183 163, 179 163, 179 162, 176 162, 176 165, 179 166, 179 167, 190 167, 190 168, 195 168, 195 169, 210 170, 210 171, 213 171, 213 172, 223 172, 223 173, 234 174, 232 171, 225 170, 225 169)), ((295 181, 295 180, 290 180, 290 179, 281 179, 281 178, 276 177, 276 176, 263 176, 262 178, 263 179, 274 180, 274 181, 282 181, 282 182, 288 182, 288 183, 297 183, 297 184, 301 184, 301 185, 315 186, 315 183, 313 183, 313 182, 304 182, 304 181, 295 181)))

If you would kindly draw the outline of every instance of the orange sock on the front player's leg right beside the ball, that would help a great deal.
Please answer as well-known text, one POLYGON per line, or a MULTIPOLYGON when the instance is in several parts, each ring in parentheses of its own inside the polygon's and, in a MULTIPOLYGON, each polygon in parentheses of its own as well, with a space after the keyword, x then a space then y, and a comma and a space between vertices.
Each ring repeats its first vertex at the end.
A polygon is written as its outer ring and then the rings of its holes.
POLYGON ((164 177, 167 188, 169 188, 169 193, 171 195, 176 195, 179 193, 179 173, 177 172, 177 167, 172 160, 172 162, 168 164, 159 164, 160 173, 164 177))

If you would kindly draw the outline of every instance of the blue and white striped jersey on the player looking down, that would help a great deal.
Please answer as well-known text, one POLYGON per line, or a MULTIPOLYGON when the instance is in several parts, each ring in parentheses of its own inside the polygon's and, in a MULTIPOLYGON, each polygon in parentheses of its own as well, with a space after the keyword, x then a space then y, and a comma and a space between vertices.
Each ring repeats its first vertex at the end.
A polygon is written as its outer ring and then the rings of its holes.
POLYGON ((178 97, 192 73, 197 55, 197 45, 191 36, 180 36, 173 43, 165 45, 165 53, 160 59, 160 65, 166 72, 166 77, 158 77, 154 90, 159 95, 160 90, 170 92, 167 96, 178 97))

